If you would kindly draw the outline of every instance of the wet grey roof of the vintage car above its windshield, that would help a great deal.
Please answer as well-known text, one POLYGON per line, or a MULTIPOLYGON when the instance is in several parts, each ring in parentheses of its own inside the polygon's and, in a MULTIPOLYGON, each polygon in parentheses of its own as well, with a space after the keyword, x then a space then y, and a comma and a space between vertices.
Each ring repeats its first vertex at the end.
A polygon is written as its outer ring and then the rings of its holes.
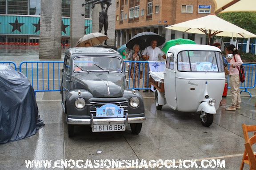
POLYGON ((108 53, 108 54, 120 54, 116 50, 113 50, 112 48, 104 48, 104 47, 75 47, 75 48, 69 48, 67 50, 69 54, 80 54, 80 53, 93 53, 93 54, 102 54, 102 53, 108 53))

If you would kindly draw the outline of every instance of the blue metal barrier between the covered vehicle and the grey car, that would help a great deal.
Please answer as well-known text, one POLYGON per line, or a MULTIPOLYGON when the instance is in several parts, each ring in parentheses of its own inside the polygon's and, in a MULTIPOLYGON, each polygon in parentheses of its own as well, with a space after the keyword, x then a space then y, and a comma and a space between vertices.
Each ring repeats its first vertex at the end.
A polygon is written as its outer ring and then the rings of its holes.
POLYGON ((60 91, 60 74, 63 62, 21 62, 20 72, 30 81, 35 92, 60 91), (23 68, 23 66, 25 67, 23 68), (61 66, 60 66, 61 65, 61 66), (44 80, 47 81, 44 81, 44 80), (34 83, 35 81, 35 83, 34 83), (57 88, 56 88, 57 86, 57 88))

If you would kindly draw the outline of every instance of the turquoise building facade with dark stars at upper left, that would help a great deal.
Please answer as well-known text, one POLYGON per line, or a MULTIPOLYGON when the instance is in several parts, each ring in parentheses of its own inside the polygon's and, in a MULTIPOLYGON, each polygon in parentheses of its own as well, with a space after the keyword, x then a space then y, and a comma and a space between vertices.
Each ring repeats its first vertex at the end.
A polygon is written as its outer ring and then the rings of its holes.
MULTIPOLYGON (((61 0, 60 7, 61 41, 65 43, 69 43, 70 36, 70 2, 61 0)), ((0 0, 0 44, 39 45, 40 13, 41 0, 0 0)), ((85 5, 80 13, 85 17, 84 34, 91 33, 91 4, 85 5)))

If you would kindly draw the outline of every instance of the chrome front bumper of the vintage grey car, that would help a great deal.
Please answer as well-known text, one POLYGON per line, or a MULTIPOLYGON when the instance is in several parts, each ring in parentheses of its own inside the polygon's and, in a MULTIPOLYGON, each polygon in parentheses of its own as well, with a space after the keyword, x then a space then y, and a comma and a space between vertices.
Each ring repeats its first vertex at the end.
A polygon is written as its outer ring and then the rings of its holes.
POLYGON ((67 118, 67 124, 88 124, 93 127, 93 125, 99 124, 136 124, 142 123, 146 120, 146 117, 128 117, 128 113, 126 113, 125 118, 104 118, 104 119, 93 119, 93 115, 91 119, 77 119, 77 118, 67 118))

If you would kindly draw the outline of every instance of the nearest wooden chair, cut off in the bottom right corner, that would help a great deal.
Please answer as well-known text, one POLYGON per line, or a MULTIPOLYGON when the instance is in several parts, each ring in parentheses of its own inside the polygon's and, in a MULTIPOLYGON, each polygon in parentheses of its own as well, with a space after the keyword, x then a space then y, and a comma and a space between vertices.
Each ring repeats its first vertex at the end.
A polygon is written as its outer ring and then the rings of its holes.
POLYGON ((256 135, 248 139, 247 143, 244 144, 245 150, 248 154, 250 170, 256 170, 256 158, 252 150, 252 145, 256 143, 256 135))

